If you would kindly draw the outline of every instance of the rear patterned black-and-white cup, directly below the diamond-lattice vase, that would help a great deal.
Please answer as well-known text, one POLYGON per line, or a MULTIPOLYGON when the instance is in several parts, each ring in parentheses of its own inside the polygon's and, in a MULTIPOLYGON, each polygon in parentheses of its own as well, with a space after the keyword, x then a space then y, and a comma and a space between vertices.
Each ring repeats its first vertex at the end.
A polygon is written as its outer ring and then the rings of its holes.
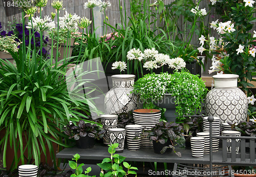
POLYGON ((103 143, 104 144, 110 144, 109 141, 109 129, 111 128, 116 128, 117 127, 117 122, 118 122, 118 116, 117 115, 112 115, 112 114, 105 114, 101 115, 101 123, 103 125, 103 129, 106 130, 104 138, 103 138, 103 143))

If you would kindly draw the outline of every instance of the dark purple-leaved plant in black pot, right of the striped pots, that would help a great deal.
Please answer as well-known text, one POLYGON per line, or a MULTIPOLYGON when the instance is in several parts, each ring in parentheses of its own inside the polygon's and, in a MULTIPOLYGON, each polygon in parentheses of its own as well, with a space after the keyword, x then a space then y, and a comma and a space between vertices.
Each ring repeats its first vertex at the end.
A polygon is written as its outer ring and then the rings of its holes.
POLYGON ((155 153, 169 152, 170 148, 174 150, 177 156, 181 157, 180 152, 176 152, 175 145, 183 144, 185 139, 180 135, 179 124, 161 121, 156 124, 148 134, 148 138, 153 141, 155 153))

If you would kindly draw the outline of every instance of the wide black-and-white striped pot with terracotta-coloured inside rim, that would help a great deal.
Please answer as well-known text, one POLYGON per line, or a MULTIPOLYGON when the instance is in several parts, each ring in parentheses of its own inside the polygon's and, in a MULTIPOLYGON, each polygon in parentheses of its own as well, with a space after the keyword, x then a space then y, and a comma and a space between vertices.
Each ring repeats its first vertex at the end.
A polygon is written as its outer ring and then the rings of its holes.
POLYGON ((145 148, 152 148, 153 142, 150 141, 150 139, 146 138, 146 136, 149 134, 149 131, 152 129, 152 127, 159 123, 161 118, 161 110, 136 109, 133 111, 133 118, 135 124, 142 125, 144 127, 144 131, 141 138, 141 146, 145 148), (150 112, 150 110, 154 110, 154 112, 150 112))

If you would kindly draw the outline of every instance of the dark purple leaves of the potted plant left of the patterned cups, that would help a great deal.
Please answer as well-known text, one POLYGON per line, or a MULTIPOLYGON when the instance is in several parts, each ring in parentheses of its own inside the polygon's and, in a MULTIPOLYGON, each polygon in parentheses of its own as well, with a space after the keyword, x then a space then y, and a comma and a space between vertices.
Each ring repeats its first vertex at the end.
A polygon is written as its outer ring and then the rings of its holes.
POLYGON ((105 130, 96 123, 85 123, 84 120, 79 120, 77 125, 73 123, 68 124, 64 131, 66 135, 75 140, 79 140, 81 137, 91 137, 94 139, 102 139, 105 134, 105 130))

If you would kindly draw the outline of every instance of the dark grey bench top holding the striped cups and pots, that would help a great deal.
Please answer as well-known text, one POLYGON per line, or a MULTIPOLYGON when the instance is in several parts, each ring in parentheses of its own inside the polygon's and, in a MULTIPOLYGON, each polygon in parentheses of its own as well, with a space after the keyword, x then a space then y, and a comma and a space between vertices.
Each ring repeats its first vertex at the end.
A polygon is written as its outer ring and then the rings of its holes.
MULTIPOLYGON (((103 160, 109 158, 108 147, 97 144, 91 149, 78 149, 77 147, 65 148, 56 154, 56 158, 72 159, 74 154, 79 153, 83 160, 103 160)), ((121 156, 126 157, 125 161, 137 162, 166 162, 166 163, 186 163, 186 164, 209 164, 209 154, 204 154, 203 158, 192 157, 191 149, 176 147, 176 151, 181 152, 181 158, 174 152, 157 154, 153 148, 141 148, 137 151, 124 149, 121 156)), ((214 159, 222 159, 222 150, 213 152, 214 159)), ((88 162, 88 161, 87 161, 88 162)))

